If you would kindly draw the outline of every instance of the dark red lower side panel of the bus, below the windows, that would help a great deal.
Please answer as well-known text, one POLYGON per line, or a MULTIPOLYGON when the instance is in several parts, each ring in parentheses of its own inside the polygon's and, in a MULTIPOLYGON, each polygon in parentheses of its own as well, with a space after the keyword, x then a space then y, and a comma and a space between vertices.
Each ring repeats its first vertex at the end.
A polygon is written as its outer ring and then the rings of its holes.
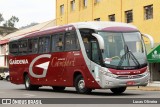
POLYGON ((44 85, 44 86, 74 86, 74 73, 79 72, 84 77, 86 87, 88 88, 100 88, 92 74, 90 73, 81 51, 70 52, 56 52, 51 55, 51 58, 40 58, 34 62, 32 66, 30 64, 40 55, 28 55, 10 57, 12 64, 10 64, 11 82, 15 84, 24 83, 24 72, 29 74, 31 84, 44 85), (16 64, 15 60, 27 60, 25 63, 16 64), (36 75, 43 74, 44 69, 39 68, 37 65, 49 62, 47 68, 46 77, 36 78, 30 75, 29 66, 32 72, 36 75))

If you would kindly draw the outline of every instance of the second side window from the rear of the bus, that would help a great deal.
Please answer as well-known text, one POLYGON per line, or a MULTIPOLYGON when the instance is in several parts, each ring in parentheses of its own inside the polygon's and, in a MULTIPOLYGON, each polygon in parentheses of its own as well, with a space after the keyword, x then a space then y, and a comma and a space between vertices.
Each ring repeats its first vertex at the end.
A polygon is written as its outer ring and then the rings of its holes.
POLYGON ((19 41, 19 54, 21 55, 27 54, 27 40, 19 41))

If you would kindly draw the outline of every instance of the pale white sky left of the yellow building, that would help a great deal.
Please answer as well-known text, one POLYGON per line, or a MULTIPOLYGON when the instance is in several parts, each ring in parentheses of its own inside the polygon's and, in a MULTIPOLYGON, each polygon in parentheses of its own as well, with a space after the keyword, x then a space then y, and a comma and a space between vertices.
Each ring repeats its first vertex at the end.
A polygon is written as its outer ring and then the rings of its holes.
MULTIPOLYGON (((42 23, 55 19, 56 0, 0 0, 0 13, 5 20, 19 18, 15 27, 42 23)), ((3 24, 3 22, 2 22, 3 24)), ((1 25, 2 25, 1 24, 1 25)))

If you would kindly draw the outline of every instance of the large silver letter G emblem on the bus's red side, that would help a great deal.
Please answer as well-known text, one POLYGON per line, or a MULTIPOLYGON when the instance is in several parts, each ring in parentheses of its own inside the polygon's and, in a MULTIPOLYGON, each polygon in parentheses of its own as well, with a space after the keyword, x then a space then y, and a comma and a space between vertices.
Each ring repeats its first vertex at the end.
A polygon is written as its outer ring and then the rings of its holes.
POLYGON ((50 61, 48 62, 45 62, 45 63, 42 63, 42 64, 39 64, 39 65, 36 65, 36 67, 39 67, 39 68, 42 68, 43 69, 43 73, 41 75, 37 75, 33 72, 32 68, 33 68, 33 65, 34 63, 41 59, 41 58, 51 58, 51 55, 50 54, 43 54, 43 55, 40 55, 38 57, 36 57, 35 59, 33 59, 33 61, 31 62, 31 64, 29 65, 29 73, 32 77, 35 77, 35 78, 44 78, 46 77, 46 74, 47 74, 47 70, 48 70, 48 66, 49 66, 49 63, 50 61))

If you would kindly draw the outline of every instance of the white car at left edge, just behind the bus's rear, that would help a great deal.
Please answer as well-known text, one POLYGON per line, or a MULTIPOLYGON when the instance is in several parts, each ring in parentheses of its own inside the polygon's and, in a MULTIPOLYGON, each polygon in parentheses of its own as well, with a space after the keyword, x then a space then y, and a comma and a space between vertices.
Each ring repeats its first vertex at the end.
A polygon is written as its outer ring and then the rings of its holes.
POLYGON ((7 67, 0 67, 0 80, 9 80, 9 69, 7 67))

